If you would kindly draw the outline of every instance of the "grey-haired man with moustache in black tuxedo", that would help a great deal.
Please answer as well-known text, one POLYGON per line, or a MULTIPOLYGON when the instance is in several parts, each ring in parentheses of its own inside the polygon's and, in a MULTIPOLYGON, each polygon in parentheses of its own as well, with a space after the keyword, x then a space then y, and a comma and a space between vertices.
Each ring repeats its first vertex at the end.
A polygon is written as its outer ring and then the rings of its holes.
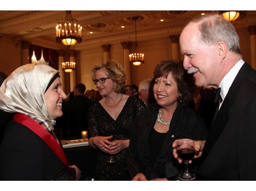
POLYGON ((256 71, 242 60, 236 29, 218 14, 195 18, 180 35, 180 49, 197 86, 221 88, 208 138, 195 141, 198 177, 256 180, 256 71))

